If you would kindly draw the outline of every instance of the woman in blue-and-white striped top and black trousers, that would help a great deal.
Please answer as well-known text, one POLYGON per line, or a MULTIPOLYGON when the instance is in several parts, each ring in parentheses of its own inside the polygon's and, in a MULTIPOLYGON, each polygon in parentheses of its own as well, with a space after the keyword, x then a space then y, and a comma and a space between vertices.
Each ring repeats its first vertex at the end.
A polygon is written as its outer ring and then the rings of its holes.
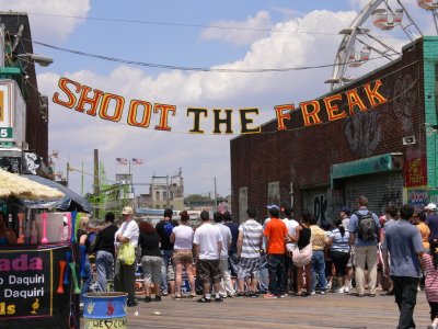
POLYGON ((349 232, 343 226, 341 218, 333 224, 335 229, 328 236, 330 257, 336 270, 337 292, 343 294, 348 292, 345 290, 345 282, 347 279, 346 268, 349 260, 349 232))

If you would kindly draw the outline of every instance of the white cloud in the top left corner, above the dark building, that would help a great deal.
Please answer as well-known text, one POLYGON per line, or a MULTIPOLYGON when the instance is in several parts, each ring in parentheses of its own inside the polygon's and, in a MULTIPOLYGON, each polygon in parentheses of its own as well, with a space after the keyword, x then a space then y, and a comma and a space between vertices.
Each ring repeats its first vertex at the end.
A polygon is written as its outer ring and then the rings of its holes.
POLYGON ((82 23, 80 19, 61 18, 87 16, 90 11, 90 0, 0 0, 4 11, 27 12, 34 39, 66 39, 82 23), (32 8, 32 10, 30 10, 32 8), (42 15, 49 13, 53 15, 42 15))

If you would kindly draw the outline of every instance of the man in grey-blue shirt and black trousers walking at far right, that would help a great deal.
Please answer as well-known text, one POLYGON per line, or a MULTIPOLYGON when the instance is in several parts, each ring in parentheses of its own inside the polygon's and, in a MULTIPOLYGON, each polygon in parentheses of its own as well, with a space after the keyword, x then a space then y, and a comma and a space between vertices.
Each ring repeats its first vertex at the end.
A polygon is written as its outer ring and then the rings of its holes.
POLYGON ((385 229, 383 241, 384 275, 391 275, 394 284, 400 329, 415 328, 413 315, 422 273, 418 258, 422 258, 424 249, 419 230, 410 222, 413 215, 414 208, 403 205, 400 208, 401 219, 385 229), (391 256, 391 265, 388 253, 391 256))

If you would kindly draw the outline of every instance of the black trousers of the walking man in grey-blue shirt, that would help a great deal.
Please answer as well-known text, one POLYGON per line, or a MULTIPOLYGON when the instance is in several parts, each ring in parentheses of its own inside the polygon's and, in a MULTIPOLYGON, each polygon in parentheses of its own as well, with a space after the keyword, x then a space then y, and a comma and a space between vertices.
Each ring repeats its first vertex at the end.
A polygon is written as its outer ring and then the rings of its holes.
POLYGON ((417 286, 419 279, 411 276, 393 276, 395 303, 399 306, 400 329, 415 328, 414 308, 417 303, 417 286))

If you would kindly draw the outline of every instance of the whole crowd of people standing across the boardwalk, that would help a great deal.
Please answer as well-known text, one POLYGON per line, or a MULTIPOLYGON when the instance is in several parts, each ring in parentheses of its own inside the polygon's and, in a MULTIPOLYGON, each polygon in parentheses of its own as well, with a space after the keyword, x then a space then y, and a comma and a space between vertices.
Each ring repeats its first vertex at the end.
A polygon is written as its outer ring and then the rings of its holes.
MULTIPOLYGON (((155 302, 171 295, 176 300, 187 297, 211 303, 227 297, 308 297, 328 291, 376 297, 385 290, 395 296, 400 309, 397 328, 415 328, 416 295, 425 287, 431 310, 429 327, 438 327, 435 204, 419 213, 408 205, 389 205, 379 217, 368 209, 367 197, 360 196, 355 209, 343 207, 327 226, 309 213, 297 220, 290 206, 268 205, 267 212, 268 218, 260 220, 250 207, 240 225, 228 212, 215 213, 212 218, 201 212, 197 227, 191 226, 185 211, 175 220, 173 212, 165 209, 163 219, 153 226, 148 222, 138 225, 132 208, 125 207, 119 227, 108 213, 94 246, 99 290, 107 290, 114 266, 114 290, 128 294, 128 306, 138 304, 137 262, 128 265, 117 258, 118 248, 131 243, 139 250, 147 303, 152 292, 155 302), (184 272, 189 285, 186 296, 184 272)), ((82 228, 78 239, 85 245, 87 224, 82 228)), ((83 292, 89 286, 85 277, 83 292)))

